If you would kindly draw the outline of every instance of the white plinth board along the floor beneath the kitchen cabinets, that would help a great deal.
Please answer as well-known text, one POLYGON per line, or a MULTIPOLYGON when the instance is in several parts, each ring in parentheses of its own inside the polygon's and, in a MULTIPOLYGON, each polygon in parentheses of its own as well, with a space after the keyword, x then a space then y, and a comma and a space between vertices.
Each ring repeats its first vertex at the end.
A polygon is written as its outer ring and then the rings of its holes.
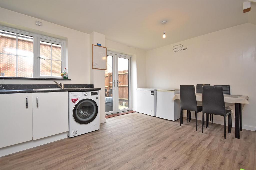
POLYGON ((57 135, 52 135, 49 137, 45 137, 42 139, 37 139, 37 140, 31 140, 31 141, 27 141, 27 142, 23 142, 23 143, 19 143, 16 145, 11 145, 11 146, 7 146, 4 148, 0 148, 0 157, 1 156, 5 156, 5 155, 9 155, 12 153, 16 153, 19 151, 23 151, 26 149, 30 149, 30 148, 34 148, 40 145, 44 145, 47 143, 51 143, 60 139, 65 139, 68 137, 68 132, 64 132, 64 133, 60 133, 57 135))

